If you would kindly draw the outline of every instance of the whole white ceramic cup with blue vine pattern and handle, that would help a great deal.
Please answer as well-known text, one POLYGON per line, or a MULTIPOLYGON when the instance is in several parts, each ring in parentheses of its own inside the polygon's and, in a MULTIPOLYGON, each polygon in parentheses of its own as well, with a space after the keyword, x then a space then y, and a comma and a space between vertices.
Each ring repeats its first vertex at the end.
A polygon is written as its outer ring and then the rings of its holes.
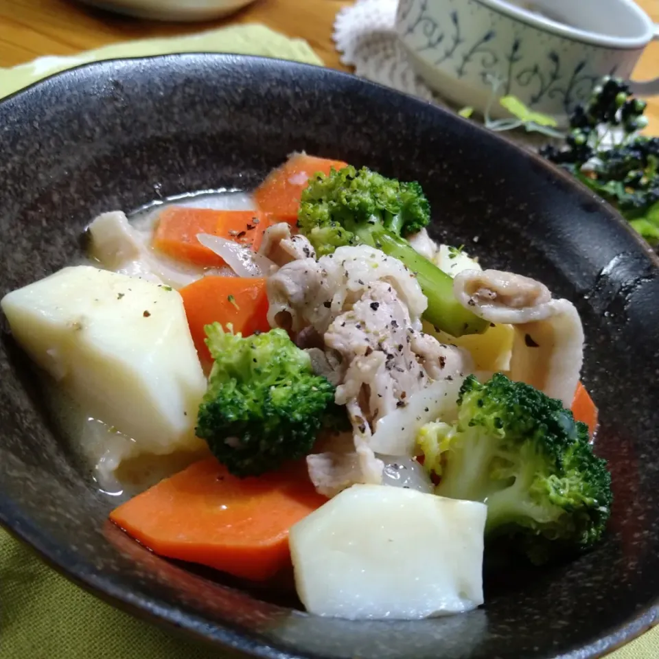
MULTIPOLYGON (((483 111, 498 81, 498 95, 561 126, 603 76, 628 79, 659 38, 633 0, 400 0, 396 30, 417 74, 447 100, 483 111)), ((659 78, 631 87, 658 94, 659 78)), ((497 106, 492 115, 505 116, 497 106)))

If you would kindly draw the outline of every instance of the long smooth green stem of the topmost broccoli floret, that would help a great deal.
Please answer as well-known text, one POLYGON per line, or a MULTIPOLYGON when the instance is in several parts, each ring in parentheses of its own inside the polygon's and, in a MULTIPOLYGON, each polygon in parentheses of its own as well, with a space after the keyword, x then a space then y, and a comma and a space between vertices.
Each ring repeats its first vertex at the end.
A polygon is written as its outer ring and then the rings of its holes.
POLYGON ((402 261, 415 273, 421 290, 428 298, 428 308, 424 312, 428 323, 451 336, 483 334, 489 327, 487 321, 478 318, 455 299, 452 277, 417 253, 406 240, 378 228, 371 232, 368 242, 374 242, 375 247, 402 261))

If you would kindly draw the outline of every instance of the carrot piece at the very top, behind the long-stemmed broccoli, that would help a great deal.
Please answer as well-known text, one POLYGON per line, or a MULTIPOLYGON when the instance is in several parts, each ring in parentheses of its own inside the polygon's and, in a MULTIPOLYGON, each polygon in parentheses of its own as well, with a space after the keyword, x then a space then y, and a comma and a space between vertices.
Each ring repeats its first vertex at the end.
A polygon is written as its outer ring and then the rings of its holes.
POLYGON ((307 187, 309 178, 318 172, 329 174, 332 167, 340 170, 346 166, 347 163, 340 160, 294 153, 281 167, 270 172, 268 178, 259 185, 255 192, 256 203, 262 211, 272 213, 275 220, 295 224, 300 196, 307 187))

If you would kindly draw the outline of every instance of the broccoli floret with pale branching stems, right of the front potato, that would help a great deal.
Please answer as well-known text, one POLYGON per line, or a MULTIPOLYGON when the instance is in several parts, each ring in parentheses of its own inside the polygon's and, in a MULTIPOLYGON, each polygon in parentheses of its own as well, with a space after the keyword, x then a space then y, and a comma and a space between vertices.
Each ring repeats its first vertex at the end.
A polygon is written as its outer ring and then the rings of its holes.
POLYGON ((487 504, 486 537, 509 536, 539 564, 592 546, 610 515, 611 476, 588 427, 559 400, 496 373, 464 382, 455 424, 424 426, 436 494, 487 504))

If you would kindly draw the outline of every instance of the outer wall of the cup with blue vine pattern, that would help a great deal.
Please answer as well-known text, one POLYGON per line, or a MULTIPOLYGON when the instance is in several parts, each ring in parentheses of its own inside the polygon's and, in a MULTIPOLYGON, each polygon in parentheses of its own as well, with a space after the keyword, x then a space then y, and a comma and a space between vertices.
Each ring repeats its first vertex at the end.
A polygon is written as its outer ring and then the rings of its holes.
POLYGON ((489 84, 494 75, 502 80, 504 93, 516 95, 538 111, 556 112, 558 103, 569 114, 588 98, 601 76, 618 71, 616 65, 606 65, 610 49, 538 30, 479 0, 432 5, 429 0, 400 0, 397 12, 399 32, 402 25, 408 47, 413 44, 413 51, 428 64, 458 79, 477 77, 482 84, 489 84), (467 18, 483 12, 487 20, 467 18), (499 26, 503 23, 507 34, 502 39, 499 26), (589 54, 586 58, 584 49, 589 54))

